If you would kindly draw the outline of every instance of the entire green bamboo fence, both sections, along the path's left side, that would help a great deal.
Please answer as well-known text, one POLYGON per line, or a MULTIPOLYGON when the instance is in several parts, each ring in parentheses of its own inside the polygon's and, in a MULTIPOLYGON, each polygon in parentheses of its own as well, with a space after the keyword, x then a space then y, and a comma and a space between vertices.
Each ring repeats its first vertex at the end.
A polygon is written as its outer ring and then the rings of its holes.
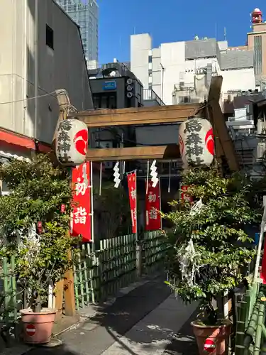
MULTIPOLYGON (((167 244, 162 231, 146 232, 142 261, 145 273, 153 273, 165 261, 167 244)), ((76 253, 74 253, 76 255, 76 253)), ((74 266, 74 292, 77 310, 115 296, 133 283, 137 273, 137 241, 135 234, 118 236, 94 244, 83 244, 77 251, 74 266)))

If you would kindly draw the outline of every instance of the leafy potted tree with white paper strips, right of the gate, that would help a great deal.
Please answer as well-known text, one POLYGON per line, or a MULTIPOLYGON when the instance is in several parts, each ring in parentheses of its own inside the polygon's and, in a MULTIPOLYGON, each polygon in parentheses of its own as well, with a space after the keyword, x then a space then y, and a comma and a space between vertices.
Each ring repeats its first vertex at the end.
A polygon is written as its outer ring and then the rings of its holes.
POLYGON ((215 168, 188 170, 183 182, 193 202, 174 201, 172 212, 164 215, 174 224, 167 284, 184 302, 200 303, 192 322, 199 354, 213 349, 225 355, 231 323, 221 300, 243 281, 240 270, 255 255, 253 239, 244 231, 258 217, 247 200, 251 185, 236 174, 221 178, 215 168))

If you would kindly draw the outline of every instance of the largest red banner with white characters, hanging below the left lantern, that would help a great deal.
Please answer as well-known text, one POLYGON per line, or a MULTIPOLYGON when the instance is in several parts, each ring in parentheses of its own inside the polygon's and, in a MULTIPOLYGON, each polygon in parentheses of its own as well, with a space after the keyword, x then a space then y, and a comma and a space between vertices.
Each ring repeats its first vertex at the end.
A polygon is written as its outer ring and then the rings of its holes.
POLYGON ((71 219, 71 236, 82 236, 82 241, 92 240, 92 202, 91 202, 90 163, 77 165, 72 169, 74 185, 74 208, 71 219))

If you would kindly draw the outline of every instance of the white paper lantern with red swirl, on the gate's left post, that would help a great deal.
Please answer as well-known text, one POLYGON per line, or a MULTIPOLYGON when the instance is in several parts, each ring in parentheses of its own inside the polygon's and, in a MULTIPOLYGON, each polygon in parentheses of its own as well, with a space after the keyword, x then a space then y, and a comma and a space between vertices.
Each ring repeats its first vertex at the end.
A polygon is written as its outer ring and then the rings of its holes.
POLYGON ((84 163, 87 155, 89 133, 87 125, 78 119, 60 122, 55 138, 55 153, 62 165, 76 166, 84 163))

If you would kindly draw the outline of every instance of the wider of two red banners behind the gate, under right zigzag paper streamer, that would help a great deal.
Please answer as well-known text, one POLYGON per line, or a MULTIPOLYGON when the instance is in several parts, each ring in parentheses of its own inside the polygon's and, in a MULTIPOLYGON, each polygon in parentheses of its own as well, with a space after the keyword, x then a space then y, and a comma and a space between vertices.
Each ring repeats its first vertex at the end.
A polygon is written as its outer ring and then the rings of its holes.
MULTIPOLYGON (((147 183, 147 181, 146 181, 147 183)), ((155 187, 153 182, 148 181, 148 191, 145 197, 145 230, 157 231, 162 229, 162 217, 160 215, 160 182, 155 187)))

